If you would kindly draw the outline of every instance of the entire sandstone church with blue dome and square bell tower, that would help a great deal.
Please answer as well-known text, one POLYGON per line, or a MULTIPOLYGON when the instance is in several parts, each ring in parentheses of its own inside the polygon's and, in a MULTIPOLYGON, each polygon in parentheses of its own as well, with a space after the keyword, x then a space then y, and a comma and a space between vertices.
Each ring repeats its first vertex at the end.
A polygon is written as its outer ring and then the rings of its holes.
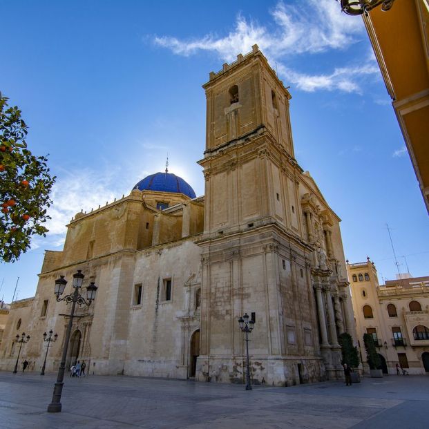
POLYGON ((97 285, 77 307, 67 368, 89 374, 243 383, 249 334, 253 383, 285 386, 343 376, 338 336, 356 341, 340 219, 294 157, 292 98, 258 46, 203 86, 207 133, 205 190, 166 169, 128 196, 68 225, 62 251, 46 251, 33 298, 11 304, 0 368, 20 360, 59 367, 70 305, 55 280, 85 275, 97 285))

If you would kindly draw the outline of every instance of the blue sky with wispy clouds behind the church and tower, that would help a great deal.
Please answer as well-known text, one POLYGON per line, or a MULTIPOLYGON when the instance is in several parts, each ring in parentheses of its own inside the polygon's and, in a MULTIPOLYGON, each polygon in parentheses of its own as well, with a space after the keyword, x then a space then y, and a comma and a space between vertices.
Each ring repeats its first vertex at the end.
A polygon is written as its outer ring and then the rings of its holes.
POLYGON ((23 111, 33 153, 57 175, 50 233, 0 265, 0 298, 37 287, 81 209, 128 194, 165 168, 204 193, 209 72, 253 44, 292 93, 296 158, 343 220, 345 255, 379 279, 429 275, 428 215, 359 17, 334 0, 0 0, 0 90, 23 111), (406 256, 406 260, 402 257, 406 256))

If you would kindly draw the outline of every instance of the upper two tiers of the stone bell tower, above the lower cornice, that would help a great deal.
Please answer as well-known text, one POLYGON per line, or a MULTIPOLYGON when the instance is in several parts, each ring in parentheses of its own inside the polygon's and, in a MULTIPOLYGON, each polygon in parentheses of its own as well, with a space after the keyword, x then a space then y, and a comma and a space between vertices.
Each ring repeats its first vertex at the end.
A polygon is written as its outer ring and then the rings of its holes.
POLYGON ((207 97, 204 233, 278 222, 301 232, 289 91, 254 45, 203 86, 207 97), (287 174, 286 174, 287 171, 287 174))

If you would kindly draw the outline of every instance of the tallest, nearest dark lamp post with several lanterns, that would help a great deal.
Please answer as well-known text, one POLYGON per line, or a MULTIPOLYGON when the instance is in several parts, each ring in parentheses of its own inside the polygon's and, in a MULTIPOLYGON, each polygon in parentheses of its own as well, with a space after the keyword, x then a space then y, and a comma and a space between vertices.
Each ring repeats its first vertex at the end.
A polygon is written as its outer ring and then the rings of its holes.
POLYGON ((88 287, 86 287, 86 299, 79 294, 80 288, 82 287, 82 283, 84 281, 84 274, 80 269, 77 270, 77 273, 73 274, 73 288, 75 292, 72 294, 64 296, 64 298, 59 298, 64 289, 66 288, 67 280, 64 276, 59 276, 57 280, 55 280, 55 295, 57 296, 57 301, 66 301, 67 304, 72 303, 72 308, 70 314, 68 314, 68 326, 66 332, 66 339, 64 341, 64 349, 63 354, 61 356, 61 363, 59 364, 57 382, 54 386, 54 392, 52 397, 52 402, 48 405, 48 412, 60 412, 61 411, 61 392, 63 390, 63 380, 64 380, 64 370, 66 369, 66 357, 67 357, 67 349, 68 342, 70 341, 70 332, 73 325, 73 316, 75 314, 76 303, 78 305, 87 305, 88 307, 95 299, 95 293, 97 292, 97 286, 95 286, 94 282, 91 282, 88 287))

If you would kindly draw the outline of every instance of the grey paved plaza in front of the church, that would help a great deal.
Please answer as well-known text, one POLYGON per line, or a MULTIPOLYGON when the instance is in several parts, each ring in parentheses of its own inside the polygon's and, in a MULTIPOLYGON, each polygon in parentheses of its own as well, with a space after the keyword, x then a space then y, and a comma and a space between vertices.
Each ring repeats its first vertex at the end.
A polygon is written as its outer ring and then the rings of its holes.
POLYGON ((0 428, 429 428, 429 377, 385 376, 346 387, 289 388, 127 376, 66 378, 50 414, 55 374, 0 372, 0 428))

